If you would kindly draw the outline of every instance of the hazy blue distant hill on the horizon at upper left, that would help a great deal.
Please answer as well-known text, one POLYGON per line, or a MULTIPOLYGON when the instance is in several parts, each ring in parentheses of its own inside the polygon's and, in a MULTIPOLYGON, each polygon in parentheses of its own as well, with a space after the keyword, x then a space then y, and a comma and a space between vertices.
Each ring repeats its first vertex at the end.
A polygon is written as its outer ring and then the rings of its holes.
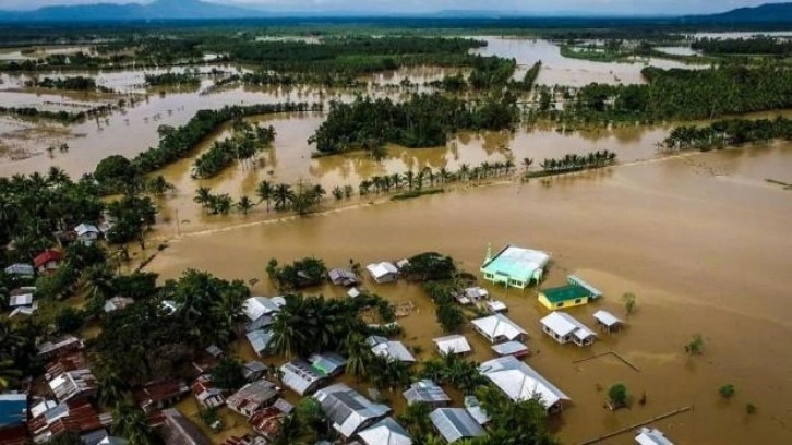
POLYGON ((149 4, 97 3, 46 7, 34 11, 0 11, 0 21, 101 22, 263 17, 265 12, 201 0, 157 0, 149 4))

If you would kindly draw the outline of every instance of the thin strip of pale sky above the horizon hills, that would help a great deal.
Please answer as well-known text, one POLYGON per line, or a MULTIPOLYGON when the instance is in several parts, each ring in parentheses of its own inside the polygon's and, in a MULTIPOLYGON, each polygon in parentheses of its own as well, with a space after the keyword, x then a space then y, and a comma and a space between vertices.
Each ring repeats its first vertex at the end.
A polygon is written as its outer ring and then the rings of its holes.
MULTIPOLYGON (((52 4, 147 3, 152 0, 0 0, 0 9, 29 10, 52 4)), ((536 14, 683 15, 792 0, 208 0, 279 11, 432 12, 443 10, 518 11, 536 14)))

